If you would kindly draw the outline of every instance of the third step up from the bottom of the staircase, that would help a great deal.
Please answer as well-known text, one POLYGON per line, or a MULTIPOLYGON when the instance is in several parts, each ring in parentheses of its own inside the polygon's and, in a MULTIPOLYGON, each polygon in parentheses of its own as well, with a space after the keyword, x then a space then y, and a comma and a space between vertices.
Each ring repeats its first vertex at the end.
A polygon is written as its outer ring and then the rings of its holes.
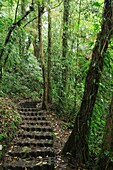
POLYGON ((31 138, 22 138, 22 137, 16 137, 13 140, 13 144, 17 146, 40 146, 40 147, 52 147, 53 146, 53 140, 51 139, 31 139, 31 138))

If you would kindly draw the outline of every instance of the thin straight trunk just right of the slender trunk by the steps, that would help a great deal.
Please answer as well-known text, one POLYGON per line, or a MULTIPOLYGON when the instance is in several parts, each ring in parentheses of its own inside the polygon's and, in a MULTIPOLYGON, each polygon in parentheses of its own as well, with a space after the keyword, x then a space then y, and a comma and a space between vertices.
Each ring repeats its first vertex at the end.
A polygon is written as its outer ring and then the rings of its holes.
MULTIPOLYGON (((48 4, 50 4, 50 0, 48 0, 48 4)), ((47 75, 47 82, 48 82, 48 95, 47 100, 48 103, 51 103, 51 9, 48 9, 48 75, 47 75)))

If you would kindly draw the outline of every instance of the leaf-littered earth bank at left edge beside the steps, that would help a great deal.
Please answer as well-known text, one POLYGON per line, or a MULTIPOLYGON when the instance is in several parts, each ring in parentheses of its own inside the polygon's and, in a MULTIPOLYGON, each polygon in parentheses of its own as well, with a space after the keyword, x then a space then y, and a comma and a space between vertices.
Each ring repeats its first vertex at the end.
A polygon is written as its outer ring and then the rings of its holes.
POLYGON ((20 120, 14 103, 8 98, 0 98, 0 142, 14 136, 20 120))

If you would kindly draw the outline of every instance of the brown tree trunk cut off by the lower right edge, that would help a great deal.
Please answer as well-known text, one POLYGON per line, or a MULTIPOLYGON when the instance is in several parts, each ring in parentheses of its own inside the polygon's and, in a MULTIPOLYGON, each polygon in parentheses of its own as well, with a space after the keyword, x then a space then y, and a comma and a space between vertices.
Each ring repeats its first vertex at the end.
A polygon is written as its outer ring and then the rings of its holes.
POLYGON ((105 132, 103 137, 102 151, 98 162, 98 170, 113 169, 113 93, 107 116, 105 132))

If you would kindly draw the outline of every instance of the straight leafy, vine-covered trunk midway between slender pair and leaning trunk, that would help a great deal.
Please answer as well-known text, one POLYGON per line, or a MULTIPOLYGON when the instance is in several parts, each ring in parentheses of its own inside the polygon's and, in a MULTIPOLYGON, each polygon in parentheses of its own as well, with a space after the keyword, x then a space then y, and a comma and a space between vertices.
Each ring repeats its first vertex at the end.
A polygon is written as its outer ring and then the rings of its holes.
POLYGON ((60 110, 65 114, 67 110, 67 94, 68 94, 68 27, 69 27, 69 2, 64 0, 63 12, 63 35, 62 35, 62 84, 59 90, 60 110))

